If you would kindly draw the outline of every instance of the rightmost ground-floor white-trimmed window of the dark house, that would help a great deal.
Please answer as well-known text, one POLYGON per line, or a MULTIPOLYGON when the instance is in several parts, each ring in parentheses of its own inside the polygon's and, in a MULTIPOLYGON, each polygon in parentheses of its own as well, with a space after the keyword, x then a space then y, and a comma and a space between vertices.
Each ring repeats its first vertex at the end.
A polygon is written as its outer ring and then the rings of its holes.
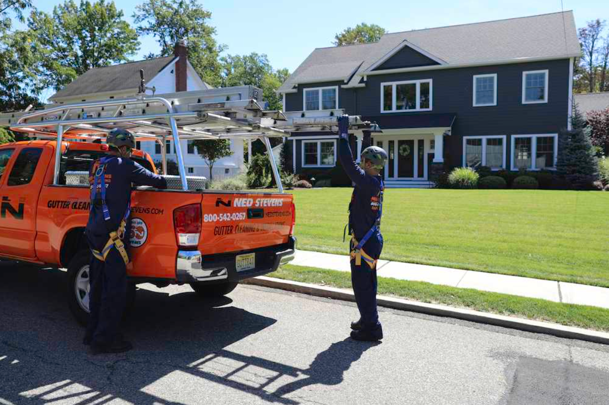
POLYGON ((556 169, 558 134, 512 135, 512 170, 556 169))

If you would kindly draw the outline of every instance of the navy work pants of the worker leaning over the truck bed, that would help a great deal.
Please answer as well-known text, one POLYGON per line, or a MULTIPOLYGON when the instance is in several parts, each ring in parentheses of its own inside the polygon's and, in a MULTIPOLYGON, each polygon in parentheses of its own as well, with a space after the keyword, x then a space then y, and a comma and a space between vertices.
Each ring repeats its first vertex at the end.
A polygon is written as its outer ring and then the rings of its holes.
POLYGON ((116 248, 106 261, 91 255, 89 271, 90 317, 86 337, 95 345, 110 345, 119 337, 119 325, 127 301, 127 267, 116 248))

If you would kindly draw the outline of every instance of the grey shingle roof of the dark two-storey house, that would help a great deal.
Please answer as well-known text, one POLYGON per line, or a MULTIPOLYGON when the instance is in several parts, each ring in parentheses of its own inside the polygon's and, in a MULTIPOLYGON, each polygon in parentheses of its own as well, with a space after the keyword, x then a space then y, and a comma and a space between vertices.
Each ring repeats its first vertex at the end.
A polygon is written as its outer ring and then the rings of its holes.
POLYGON ((580 54, 573 13, 559 12, 405 32, 387 33, 375 43, 315 49, 278 90, 293 91, 295 85, 348 80, 354 85, 368 68, 404 41, 445 60, 448 65, 488 64, 526 58, 562 58, 580 54), (356 74, 348 66, 361 63, 356 74), (312 66, 315 69, 312 70, 312 66))

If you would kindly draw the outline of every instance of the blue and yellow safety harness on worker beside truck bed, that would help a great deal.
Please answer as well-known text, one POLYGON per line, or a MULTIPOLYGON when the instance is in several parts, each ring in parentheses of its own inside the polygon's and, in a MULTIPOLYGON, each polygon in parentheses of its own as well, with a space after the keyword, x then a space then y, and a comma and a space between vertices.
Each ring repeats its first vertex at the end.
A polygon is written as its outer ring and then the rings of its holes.
MULTIPOLYGON (((108 210, 108 205, 106 204, 106 181, 105 181, 105 171, 107 164, 115 159, 116 157, 105 157, 101 158, 99 161, 99 166, 95 172, 95 177, 93 180, 93 189, 91 190, 91 210, 93 210, 93 206, 96 205, 96 197, 97 197, 97 186, 100 186, 100 194, 101 194, 101 205, 102 210, 104 211, 104 222, 106 227, 110 226, 110 210, 108 210)), ((99 203, 97 204, 99 206, 99 203)), ((129 255, 127 254, 127 250, 125 249, 125 244, 122 242, 122 238, 125 236, 125 227, 127 227, 127 219, 131 214, 131 202, 130 200, 127 202, 127 210, 125 211, 125 215, 122 217, 121 224, 118 227, 118 230, 110 230, 108 229, 108 234, 110 235, 110 239, 101 250, 91 249, 93 256, 95 256, 100 261, 105 261, 110 249, 114 246, 118 253, 121 254, 123 261, 125 262, 125 266, 129 263, 129 255)))

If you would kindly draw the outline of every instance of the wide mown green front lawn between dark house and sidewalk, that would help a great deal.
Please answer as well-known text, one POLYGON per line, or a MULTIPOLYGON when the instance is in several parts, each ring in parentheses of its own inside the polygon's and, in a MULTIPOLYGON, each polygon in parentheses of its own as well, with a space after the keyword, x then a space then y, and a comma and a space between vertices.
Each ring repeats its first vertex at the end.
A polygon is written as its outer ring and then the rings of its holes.
MULTIPOLYGON (((347 254, 350 188, 297 189, 298 247, 347 254)), ((609 287, 609 193, 387 189, 382 259, 609 287)))

